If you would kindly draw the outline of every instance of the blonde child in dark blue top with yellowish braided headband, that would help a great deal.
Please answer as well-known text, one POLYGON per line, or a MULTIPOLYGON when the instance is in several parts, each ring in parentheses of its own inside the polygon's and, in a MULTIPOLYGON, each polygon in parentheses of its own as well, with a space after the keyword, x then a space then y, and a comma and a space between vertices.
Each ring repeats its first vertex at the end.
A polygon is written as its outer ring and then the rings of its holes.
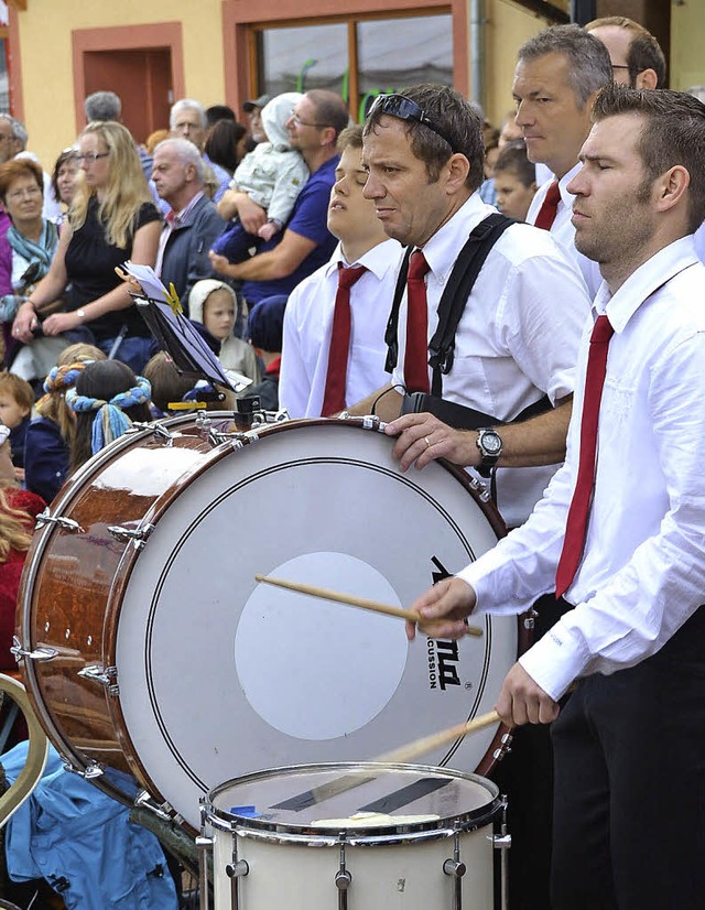
POLYGON ((66 407, 66 390, 76 384, 88 364, 105 359, 94 345, 69 345, 44 380, 44 396, 36 402, 24 442, 24 485, 46 502, 54 499, 68 476, 76 416, 66 407))

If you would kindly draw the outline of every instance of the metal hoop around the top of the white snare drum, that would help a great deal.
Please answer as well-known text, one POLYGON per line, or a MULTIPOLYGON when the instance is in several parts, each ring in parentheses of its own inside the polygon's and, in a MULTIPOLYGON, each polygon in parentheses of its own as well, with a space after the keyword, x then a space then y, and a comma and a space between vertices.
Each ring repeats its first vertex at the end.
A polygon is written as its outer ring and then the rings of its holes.
MULTIPOLYGON (((325 786, 325 784, 324 784, 325 786)), ((457 771, 451 768, 432 765, 403 765, 399 762, 381 761, 327 761, 321 763, 290 765, 282 768, 270 768, 264 771, 253 771, 249 774, 234 778, 215 787, 200 801, 200 814, 213 827, 235 833, 242 837, 257 841, 267 841, 281 844, 297 844, 301 846, 336 846, 343 842, 350 846, 382 846, 405 844, 421 841, 436 841, 452 837, 457 832, 470 832, 485 827, 492 822, 503 809, 503 801, 499 795, 497 784, 477 773, 457 771), (443 819, 426 822, 415 822, 404 825, 373 825, 364 827, 356 825, 354 834, 343 828, 332 834, 330 827, 316 827, 315 824, 288 824, 269 822, 262 819, 243 819, 231 812, 226 812, 214 805, 214 800, 232 784, 257 784, 273 777, 284 777, 288 773, 305 773, 307 771, 339 772, 344 774, 370 773, 373 771, 404 771, 410 774, 433 774, 447 778, 448 781, 462 780, 477 783, 487 789, 488 802, 478 809, 458 812, 443 819)))

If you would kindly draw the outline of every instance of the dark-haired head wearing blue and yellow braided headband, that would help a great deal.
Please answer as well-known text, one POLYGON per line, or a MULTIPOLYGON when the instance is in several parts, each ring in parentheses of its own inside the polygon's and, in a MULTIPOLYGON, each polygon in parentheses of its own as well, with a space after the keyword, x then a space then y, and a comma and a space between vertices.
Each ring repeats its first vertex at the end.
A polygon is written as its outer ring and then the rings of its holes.
POLYGON ((135 421, 152 420, 152 389, 120 360, 89 364, 66 392, 66 405, 76 414, 70 467, 79 468, 91 455, 119 438, 135 421), (129 413, 129 415, 128 415, 129 413))

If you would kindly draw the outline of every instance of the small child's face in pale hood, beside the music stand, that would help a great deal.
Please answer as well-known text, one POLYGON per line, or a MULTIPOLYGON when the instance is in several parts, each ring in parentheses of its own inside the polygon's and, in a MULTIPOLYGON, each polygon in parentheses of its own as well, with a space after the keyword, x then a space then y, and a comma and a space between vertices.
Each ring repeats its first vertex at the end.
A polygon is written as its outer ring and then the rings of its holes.
POLYGON ((200 323, 220 345, 218 359, 224 370, 234 370, 253 382, 259 380, 257 358, 252 348, 232 334, 237 301, 235 291, 224 281, 197 281, 188 294, 188 315, 200 323))

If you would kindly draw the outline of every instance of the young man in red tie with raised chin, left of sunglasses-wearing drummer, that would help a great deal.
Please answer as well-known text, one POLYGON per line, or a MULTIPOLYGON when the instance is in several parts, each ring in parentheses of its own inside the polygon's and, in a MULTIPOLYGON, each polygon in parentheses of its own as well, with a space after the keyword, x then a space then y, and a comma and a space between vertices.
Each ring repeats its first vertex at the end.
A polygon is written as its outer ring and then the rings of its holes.
MULTIPOLYGON (((384 382, 384 328, 394 293, 401 246, 390 240, 364 198, 362 128, 349 127, 338 138, 340 161, 328 207, 328 230, 340 241, 330 261, 292 292, 284 316, 284 347, 279 396, 292 418, 330 416, 384 382), (339 279, 348 268, 365 271, 349 289, 347 357, 332 362, 332 340, 339 279), (334 372, 340 373, 334 376, 334 372), (326 387, 339 381, 338 399, 326 387)), ((339 332, 339 327, 336 332, 339 332)), ((335 356, 335 355, 334 355, 335 356)))

